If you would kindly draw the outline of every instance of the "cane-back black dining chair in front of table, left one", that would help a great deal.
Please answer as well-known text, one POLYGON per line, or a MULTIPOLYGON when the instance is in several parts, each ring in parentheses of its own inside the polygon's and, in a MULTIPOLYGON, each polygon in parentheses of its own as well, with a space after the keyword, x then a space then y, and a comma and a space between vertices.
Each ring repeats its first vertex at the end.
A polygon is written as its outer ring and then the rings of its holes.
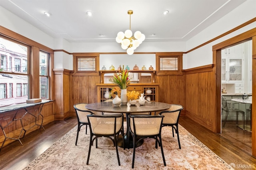
POLYGON ((124 115, 119 113, 119 115, 87 115, 88 123, 90 127, 90 145, 88 151, 88 157, 86 165, 89 164, 90 152, 93 141, 96 141, 96 148, 98 148, 98 138, 107 137, 111 139, 116 147, 116 155, 118 160, 118 165, 120 166, 120 159, 118 154, 117 139, 121 133, 123 143, 124 143, 124 115))

